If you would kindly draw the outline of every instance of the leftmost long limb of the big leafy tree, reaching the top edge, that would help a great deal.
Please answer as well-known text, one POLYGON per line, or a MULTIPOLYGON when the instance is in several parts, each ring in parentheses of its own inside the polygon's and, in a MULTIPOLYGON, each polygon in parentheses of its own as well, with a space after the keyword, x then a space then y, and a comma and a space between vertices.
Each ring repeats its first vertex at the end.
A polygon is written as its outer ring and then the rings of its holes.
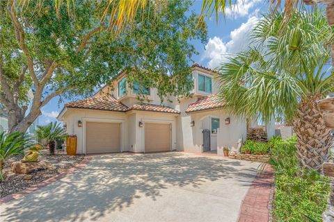
POLYGON ((27 60, 27 63, 28 63, 28 68, 29 68, 29 73, 31 75, 31 78, 33 79, 33 83, 35 84, 35 87, 38 87, 39 82, 38 82, 38 78, 35 74, 35 70, 33 70, 33 60, 31 59, 28 48, 26 47, 26 44, 24 42, 24 30, 22 28, 22 25, 19 23, 19 20, 16 17, 15 1, 13 1, 13 4, 10 8, 9 14, 10 14, 10 18, 12 19, 12 22, 14 24, 16 40, 19 44, 20 49, 22 49, 22 51, 24 53, 24 56, 26 56, 26 60, 27 60))

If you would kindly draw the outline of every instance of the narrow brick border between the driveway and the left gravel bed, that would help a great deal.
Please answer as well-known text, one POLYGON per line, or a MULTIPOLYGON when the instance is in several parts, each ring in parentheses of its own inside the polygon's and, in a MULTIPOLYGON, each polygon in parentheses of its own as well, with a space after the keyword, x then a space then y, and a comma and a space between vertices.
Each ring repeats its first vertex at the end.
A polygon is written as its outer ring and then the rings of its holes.
POLYGON ((81 162, 79 162, 79 164, 75 165, 74 167, 67 169, 67 171, 63 172, 63 173, 59 173, 54 177, 51 177, 47 180, 43 180, 42 182, 39 182, 37 185, 33 185, 31 187, 28 187, 22 191, 18 191, 15 194, 9 194, 7 196, 4 196, 3 198, 0 198, 0 204, 1 203, 8 203, 11 200, 17 200, 19 198, 22 198, 23 196, 26 196, 28 194, 31 194, 33 191, 36 191, 42 187, 45 187, 53 182, 56 182, 57 180, 61 180, 62 178, 64 178, 65 176, 67 176, 70 173, 74 173, 79 171, 79 169, 86 167, 87 164, 90 162, 90 160, 92 160, 92 156, 87 156, 85 155, 84 160, 82 160, 81 162))

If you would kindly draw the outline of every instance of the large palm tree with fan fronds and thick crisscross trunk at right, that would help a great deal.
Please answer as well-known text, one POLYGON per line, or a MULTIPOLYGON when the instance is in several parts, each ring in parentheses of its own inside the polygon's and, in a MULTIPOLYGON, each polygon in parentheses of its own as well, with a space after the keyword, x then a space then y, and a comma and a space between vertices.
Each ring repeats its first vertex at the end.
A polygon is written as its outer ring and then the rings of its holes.
POLYGON ((219 96, 234 114, 294 120, 299 163, 320 169, 333 141, 316 101, 334 89, 334 29, 318 9, 295 12, 284 30, 283 23, 283 13, 264 16, 253 30, 257 46, 218 68, 219 96))

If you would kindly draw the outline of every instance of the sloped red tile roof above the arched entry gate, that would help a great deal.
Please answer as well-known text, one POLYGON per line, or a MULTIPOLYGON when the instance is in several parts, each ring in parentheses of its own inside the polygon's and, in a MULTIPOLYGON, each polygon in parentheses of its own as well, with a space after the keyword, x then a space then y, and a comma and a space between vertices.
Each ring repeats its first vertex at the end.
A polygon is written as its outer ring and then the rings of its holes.
POLYGON ((186 112, 196 112, 201 110, 211 110, 223 107, 223 102, 218 99, 216 94, 198 98, 195 103, 191 103, 186 112))

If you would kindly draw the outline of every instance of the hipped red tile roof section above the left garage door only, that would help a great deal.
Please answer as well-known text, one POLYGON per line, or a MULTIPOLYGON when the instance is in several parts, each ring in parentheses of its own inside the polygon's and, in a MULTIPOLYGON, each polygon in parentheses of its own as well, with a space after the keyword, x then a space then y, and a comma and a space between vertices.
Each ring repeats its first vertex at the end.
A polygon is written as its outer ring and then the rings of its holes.
POLYGON ((126 105, 117 101, 113 96, 95 96, 93 98, 66 103, 65 107, 119 112, 126 112, 128 110, 126 105))

